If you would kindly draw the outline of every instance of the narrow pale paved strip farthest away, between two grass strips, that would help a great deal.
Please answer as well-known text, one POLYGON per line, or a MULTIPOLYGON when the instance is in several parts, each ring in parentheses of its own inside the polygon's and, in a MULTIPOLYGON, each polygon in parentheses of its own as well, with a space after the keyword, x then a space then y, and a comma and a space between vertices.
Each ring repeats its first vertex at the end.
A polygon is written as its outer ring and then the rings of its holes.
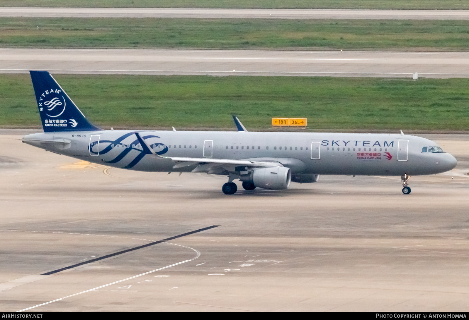
POLYGON ((467 20, 469 10, 2 7, 0 17, 467 20))

